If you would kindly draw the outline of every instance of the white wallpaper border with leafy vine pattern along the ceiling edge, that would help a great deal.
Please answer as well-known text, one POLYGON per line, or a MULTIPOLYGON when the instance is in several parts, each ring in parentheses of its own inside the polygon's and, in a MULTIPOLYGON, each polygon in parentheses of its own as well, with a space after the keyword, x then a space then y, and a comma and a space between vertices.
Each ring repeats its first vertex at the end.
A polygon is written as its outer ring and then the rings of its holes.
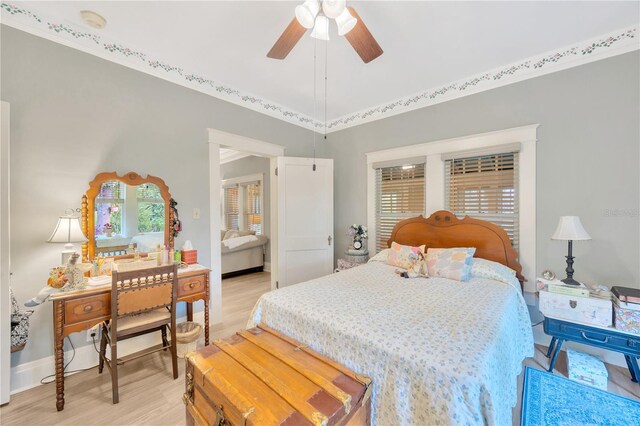
MULTIPOLYGON (((180 84, 219 99, 267 114, 307 129, 322 131, 324 122, 275 102, 226 86, 207 76, 151 58, 146 53, 68 23, 53 22, 37 12, 10 3, 0 3, 2 23, 37 36, 99 56, 147 74, 180 84)), ((430 88, 327 123, 329 132, 342 130, 418 108, 468 96, 563 69, 583 65, 640 49, 638 27, 620 29, 573 46, 507 64, 455 82, 430 88)))

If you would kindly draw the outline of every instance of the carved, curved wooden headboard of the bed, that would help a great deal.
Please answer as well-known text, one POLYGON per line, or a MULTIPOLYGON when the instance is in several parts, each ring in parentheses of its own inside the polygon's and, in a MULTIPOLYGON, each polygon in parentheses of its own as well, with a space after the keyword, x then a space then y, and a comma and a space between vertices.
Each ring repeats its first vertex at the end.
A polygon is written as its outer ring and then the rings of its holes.
POLYGON ((516 271, 520 284, 524 282, 518 254, 504 229, 491 222, 465 216, 458 219, 453 213, 439 210, 425 219, 422 216, 405 219, 393 228, 387 245, 398 244, 426 248, 475 247, 474 257, 502 263, 516 271))

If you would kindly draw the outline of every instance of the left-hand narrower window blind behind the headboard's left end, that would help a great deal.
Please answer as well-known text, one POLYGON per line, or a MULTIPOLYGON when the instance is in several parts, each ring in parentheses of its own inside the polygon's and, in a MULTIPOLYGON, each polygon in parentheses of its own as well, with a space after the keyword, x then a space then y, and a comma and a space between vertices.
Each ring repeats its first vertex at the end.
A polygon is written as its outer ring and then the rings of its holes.
POLYGON ((376 250, 387 248, 393 227, 424 213, 425 164, 376 168, 376 250))

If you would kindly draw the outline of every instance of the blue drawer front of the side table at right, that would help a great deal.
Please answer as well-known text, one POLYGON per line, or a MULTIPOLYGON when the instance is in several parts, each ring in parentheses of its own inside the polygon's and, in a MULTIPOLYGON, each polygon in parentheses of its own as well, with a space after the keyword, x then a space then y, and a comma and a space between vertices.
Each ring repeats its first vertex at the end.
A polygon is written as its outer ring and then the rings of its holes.
POLYGON ((553 319, 548 320, 545 325, 545 332, 555 337, 640 356, 640 336, 629 336, 615 330, 602 330, 553 319))

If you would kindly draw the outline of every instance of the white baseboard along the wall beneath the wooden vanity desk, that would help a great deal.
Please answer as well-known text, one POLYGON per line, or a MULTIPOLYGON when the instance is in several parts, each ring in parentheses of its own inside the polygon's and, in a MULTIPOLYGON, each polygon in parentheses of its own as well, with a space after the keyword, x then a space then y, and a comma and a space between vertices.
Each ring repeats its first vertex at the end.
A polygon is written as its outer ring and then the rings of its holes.
MULTIPOLYGON (((185 316, 178 318, 176 322, 181 323, 186 320, 187 317, 185 316)), ((194 312, 193 320, 203 324, 204 312, 194 312)), ((99 341, 99 338, 96 339, 96 346, 98 346, 99 341)), ((135 339, 123 340, 122 342, 118 342, 118 357, 136 353, 161 343, 160 333, 146 334, 135 339)), ((72 350, 68 350, 64 353, 65 362, 69 362, 72 353, 72 350)), ((91 344, 76 348, 76 356, 73 358, 71 364, 69 364, 69 367, 67 367, 67 370, 82 370, 92 368, 97 365, 98 354, 91 344)), ((39 386, 41 384, 40 380, 51 374, 55 374, 55 357, 53 355, 12 367, 10 379, 11 395, 39 386)))

